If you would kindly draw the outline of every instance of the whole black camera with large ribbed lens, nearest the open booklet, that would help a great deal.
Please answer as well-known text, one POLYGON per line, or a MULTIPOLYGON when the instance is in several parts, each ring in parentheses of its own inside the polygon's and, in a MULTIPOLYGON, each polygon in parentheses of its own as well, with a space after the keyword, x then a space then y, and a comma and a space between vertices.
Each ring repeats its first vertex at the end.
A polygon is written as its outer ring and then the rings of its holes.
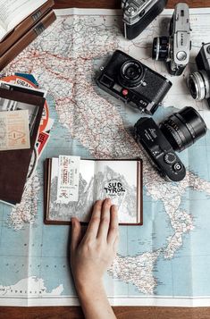
POLYGON ((206 123, 188 106, 173 113, 159 126, 152 118, 143 117, 135 124, 135 135, 166 180, 180 181, 186 175, 175 151, 181 152, 206 134, 206 123))

